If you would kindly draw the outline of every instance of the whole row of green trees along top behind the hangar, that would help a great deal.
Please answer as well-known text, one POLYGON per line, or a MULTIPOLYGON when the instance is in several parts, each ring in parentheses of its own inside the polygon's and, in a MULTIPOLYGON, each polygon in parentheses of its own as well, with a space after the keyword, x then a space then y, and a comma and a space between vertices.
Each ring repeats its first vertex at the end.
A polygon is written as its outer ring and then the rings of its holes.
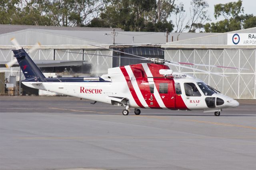
POLYGON ((230 32, 256 27, 256 16, 243 14, 242 0, 214 6, 219 22, 206 23, 208 3, 191 0, 190 12, 177 0, 0 0, 0 24, 112 27, 125 31, 230 32), (186 15, 190 19, 185 22, 186 15))

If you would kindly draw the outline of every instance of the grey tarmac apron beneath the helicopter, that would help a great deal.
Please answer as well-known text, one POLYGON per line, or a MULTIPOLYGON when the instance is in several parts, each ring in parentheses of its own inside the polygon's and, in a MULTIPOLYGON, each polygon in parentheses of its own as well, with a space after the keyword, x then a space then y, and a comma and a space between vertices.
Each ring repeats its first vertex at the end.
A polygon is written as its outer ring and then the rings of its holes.
POLYGON ((255 101, 220 117, 155 109, 123 116, 123 107, 74 97, 1 96, 0 169, 255 170, 255 101))

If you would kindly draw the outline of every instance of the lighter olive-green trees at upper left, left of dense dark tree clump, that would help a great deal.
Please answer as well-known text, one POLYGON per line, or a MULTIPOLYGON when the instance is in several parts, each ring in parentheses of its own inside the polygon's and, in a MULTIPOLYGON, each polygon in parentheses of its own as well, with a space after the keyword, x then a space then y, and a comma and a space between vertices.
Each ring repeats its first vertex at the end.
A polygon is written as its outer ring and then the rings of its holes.
POLYGON ((86 26, 108 0, 2 0, 0 24, 86 26))

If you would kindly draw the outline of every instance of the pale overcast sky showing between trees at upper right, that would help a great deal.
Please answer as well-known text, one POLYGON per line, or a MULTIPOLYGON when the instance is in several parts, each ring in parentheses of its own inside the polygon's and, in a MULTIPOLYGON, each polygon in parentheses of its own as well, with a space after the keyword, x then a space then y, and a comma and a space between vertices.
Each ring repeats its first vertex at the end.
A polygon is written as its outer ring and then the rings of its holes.
MULTIPOLYGON (((208 8, 208 14, 210 15, 211 22, 216 22, 219 20, 223 20, 223 17, 217 18, 217 20, 214 18, 214 5, 215 4, 226 4, 228 2, 237 2, 237 0, 206 0, 209 4, 208 8)), ((256 16, 256 0, 242 0, 242 7, 244 7, 244 14, 253 14, 256 16)), ((184 8, 187 13, 187 19, 190 17, 189 14, 189 8, 190 8, 190 2, 191 0, 177 0, 176 4, 180 4, 182 2, 184 4, 184 8)), ((171 17, 172 21, 175 22, 175 16, 172 15, 171 17)))

